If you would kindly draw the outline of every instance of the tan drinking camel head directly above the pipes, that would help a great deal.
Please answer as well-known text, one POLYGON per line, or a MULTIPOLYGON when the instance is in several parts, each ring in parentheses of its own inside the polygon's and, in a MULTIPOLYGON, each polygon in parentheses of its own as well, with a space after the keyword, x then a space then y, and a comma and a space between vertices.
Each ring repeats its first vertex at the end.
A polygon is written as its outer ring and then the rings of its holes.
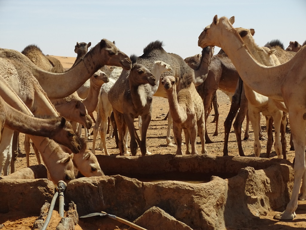
POLYGON ((75 179, 74 170, 73 170, 73 162, 72 162, 72 154, 64 152, 61 148, 61 156, 55 163, 51 163, 48 167, 48 171, 50 172, 51 180, 54 184, 58 184, 60 180, 68 183, 71 180, 75 179))

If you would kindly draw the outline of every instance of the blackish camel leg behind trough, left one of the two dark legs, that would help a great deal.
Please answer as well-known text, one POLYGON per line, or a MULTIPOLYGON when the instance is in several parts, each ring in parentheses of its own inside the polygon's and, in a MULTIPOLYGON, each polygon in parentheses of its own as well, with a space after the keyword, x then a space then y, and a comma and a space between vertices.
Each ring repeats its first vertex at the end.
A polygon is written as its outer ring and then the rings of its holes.
POLYGON ((241 93, 242 93, 242 87, 243 82, 239 78, 237 82, 237 87, 235 90, 235 94, 232 97, 232 102, 230 106, 230 111, 224 121, 224 146, 223 146, 223 156, 228 156, 228 140, 230 135, 230 129, 233 124, 234 117, 237 114, 237 111, 240 107, 240 101, 241 101, 241 93))

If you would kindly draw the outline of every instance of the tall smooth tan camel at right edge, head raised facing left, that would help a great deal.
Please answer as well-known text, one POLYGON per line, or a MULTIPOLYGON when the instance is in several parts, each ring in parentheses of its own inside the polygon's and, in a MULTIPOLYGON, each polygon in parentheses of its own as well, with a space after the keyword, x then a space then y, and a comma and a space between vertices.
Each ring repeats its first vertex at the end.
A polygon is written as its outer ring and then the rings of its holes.
POLYGON ((277 220, 296 217, 297 200, 306 198, 305 147, 306 104, 303 98, 306 87, 306 47, 302 47, 288 62, 266 67, 257 63, 248 52, 243 40, 233 28, 234 18, 218 19, 215 15, 211 25, 200 34, 198 45, 218 45, 225 50, 235 65, 241 79, 254 91, 284 101, 289 111, 290 128, 295 148, 294 184, 291 199, 284 212, 274 216, 277 220), (300 189, 301 181, 303 183, 300 189))

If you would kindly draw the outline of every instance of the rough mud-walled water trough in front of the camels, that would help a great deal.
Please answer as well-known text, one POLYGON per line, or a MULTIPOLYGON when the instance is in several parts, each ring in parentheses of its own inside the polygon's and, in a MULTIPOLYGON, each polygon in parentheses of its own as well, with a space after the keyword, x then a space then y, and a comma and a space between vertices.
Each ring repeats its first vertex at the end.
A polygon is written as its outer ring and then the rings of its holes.
MULTIPOLYGON (((172 154, 97 158, 106 176, 69 182, 65 203, 73 201, 79 217, 104 211, 146 229, 237 229, 271 210, 283 211, 293 186, 292 164, 282 159, 172 154)), ((0 179, 0 213, 39 215, 54 194, 53 183, 40 179, 47 176, 45 168, 15 175, 0 179)), ((101 226, 102 218, 80 218, 80 226, 86 221, 101 226)))

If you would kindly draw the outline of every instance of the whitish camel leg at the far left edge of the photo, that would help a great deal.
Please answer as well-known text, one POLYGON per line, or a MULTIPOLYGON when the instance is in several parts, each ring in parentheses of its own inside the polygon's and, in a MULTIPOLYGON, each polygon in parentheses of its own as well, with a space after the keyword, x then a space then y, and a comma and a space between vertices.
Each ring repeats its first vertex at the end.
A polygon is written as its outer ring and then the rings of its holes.
MULTIPOLYGON (((4 155, 2 164, 1 164, 1 171, 3 167, 3 175, 7 176, 9 174, 9 166, 12 159, 12 141, 13 141, 13 133, 14 131, 9 128, 3 128, 1 144, 0 144, 0 151, 4 155)), ((1 172, 0 171, 0 172, 1 172)))

